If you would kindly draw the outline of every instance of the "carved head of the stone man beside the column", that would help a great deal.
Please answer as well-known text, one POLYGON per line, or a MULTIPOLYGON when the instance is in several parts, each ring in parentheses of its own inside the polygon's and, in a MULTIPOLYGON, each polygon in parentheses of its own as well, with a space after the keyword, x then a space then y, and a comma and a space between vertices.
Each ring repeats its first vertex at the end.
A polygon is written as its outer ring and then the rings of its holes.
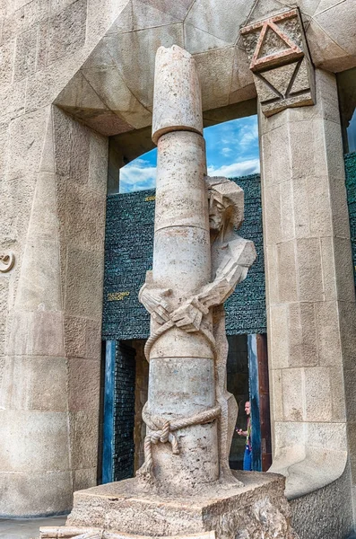
POLYGON ((244 191, 234 181, 206 176, 209 224, 213 232, 224 227, 239 228, 244 218, 244 191))

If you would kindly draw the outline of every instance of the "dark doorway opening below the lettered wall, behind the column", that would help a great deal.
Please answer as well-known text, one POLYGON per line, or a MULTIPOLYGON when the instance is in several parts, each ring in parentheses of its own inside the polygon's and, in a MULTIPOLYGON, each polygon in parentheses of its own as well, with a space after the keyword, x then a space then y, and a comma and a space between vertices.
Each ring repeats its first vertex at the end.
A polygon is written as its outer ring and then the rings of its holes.
MULTIPOLYGON (((245 402, 251 402, 253 469, 272 464, 268 365, 265 335, 230 335, 227 385, 239 404, 236 429, 246 429, 245 402)), ((104 393, 102 482, 134 477, 144 460, 146 427, 142 419, 148 398, 149 364, 145 340, 107 341, 104 393)), ((235 431, 230 468, 241 470, 246 439, 235 431)))

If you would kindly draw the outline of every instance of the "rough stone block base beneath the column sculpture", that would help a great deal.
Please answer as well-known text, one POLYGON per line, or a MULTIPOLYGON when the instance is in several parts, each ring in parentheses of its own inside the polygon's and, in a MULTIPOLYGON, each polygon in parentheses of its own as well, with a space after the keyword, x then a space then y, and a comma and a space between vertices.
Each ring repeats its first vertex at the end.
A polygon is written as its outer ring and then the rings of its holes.
MULTIPOLYGON (((217 483, 179 498, 149 487, 143 491, 137 479, 81 490, 74 493, 74 508, 65 527, 97 528, 100 537, 187 538, 210 532, 216 539, 295 539, 283 494, 284 477, 256 472, 235 475, 243 487, 217 483)), ((74 536, 41 531, 43 538, 74 536)))

